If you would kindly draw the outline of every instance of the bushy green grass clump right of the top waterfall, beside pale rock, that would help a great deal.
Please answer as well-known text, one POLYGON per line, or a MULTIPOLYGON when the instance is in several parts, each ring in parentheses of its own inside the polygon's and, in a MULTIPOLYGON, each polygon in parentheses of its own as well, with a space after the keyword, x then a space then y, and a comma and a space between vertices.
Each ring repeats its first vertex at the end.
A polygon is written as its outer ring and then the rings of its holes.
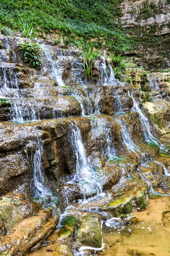
POLYGON ((130 68, 133 64, 122 56, 112 56, 111 59, 115 77, 122 80, 125 68, 130 68))

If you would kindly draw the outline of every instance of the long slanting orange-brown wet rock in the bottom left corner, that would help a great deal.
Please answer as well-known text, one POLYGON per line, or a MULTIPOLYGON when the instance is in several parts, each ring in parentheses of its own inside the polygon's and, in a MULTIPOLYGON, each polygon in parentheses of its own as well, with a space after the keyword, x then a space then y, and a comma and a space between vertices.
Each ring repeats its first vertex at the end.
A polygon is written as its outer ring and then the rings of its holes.
POLYGON ((43 241, 43 238, 49 236, 56 228, 59 216, 50 217, 50 215, 50 211, 41 209, 36 216, 27 218, 15 225, 11 233, 4 236, 0 241, 0 250, 8 249, 11 256, 28 253, 31 247, 39 241, 43 241))

